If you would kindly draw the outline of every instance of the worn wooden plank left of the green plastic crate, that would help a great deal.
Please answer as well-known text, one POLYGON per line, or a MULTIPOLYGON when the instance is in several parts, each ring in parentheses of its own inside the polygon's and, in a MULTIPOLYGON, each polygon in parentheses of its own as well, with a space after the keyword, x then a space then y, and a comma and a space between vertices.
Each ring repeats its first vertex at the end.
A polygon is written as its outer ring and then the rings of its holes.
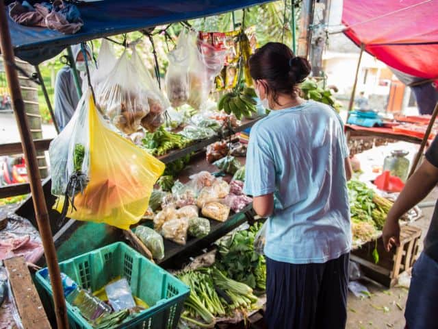
POLYGON ((51 329, 23 256, 3 260, 24 329, 51 329))

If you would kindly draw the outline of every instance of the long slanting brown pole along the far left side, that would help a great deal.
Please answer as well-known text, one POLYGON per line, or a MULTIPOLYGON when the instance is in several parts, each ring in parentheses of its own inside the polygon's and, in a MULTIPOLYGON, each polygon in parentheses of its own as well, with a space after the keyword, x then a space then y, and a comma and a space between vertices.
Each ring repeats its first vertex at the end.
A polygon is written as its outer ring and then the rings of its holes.
POLYGON ((66 303, 64 300, 64 291, 60 275, 60 267, 57 263, 55 245, 49 223, 49 214, 47 205, 42 191, 40 171, 38 170, 38 161, 36 159, 36 150, 29 131, 29 122, 25 113, 25 103, 21 97, 21 89, 18 84, 18 75, 14 69, 14 51, 9 33, 8 19, 6 19, 5 4, 0 1, 0 42, 3 61, 5 62, 6 78, 10 88, 12 99, 12 108, 14 109, 18 130, 20 132, 21 144, 26 160, 27 174, 29 175, 29 184, 31 187, 32 198, 38 222, 38 230, 44 247, 44 254, 49 267, 49 275, 53 290, 53 302, 55 305, 55 315, 57 328, 68 328, 68 319, 66 313, 66 303))

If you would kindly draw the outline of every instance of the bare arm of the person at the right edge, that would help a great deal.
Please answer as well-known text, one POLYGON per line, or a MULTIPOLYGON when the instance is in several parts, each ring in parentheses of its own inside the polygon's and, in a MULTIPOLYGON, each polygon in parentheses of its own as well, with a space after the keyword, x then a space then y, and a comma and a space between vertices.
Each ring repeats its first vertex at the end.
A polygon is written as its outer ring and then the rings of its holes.
POLYGON ((400 225, 398 219, 409 209, 422 201, 438 182, 438 168, 424 160, 417 171, 409 178, 403 191, 389 210, 383 228, 383 243, 389 252, 394 245, 400 245, 400 225))

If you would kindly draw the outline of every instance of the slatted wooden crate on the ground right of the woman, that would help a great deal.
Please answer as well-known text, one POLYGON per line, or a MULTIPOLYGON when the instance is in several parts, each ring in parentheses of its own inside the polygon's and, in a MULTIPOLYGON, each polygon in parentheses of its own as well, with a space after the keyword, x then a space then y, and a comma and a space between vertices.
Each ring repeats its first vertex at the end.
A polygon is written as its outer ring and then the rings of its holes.
POLYGON ((422 230, 414 226, 402 226, 400 228, 400 247, 386 252, 382 238, 377 239, 378 263, 374 263, 372 252, 376 247, 376 241, 365 243, 359 249, 351 252, 350 259, 359 263, 361 271, 368 278, 383 284, 385 287, 393 287, 398 282, 398 277, 404 271, 413 267, 417 260, 418 247, 422 230))

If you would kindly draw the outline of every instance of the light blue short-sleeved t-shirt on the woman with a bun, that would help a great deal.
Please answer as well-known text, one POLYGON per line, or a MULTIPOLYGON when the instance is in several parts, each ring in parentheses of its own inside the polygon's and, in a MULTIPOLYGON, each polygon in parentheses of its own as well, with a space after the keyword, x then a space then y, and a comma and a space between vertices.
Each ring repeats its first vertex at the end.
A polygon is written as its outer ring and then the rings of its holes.
POLYGON ((325 263, 350 252, 350 208, 342 122, 322 103, 270 112, 250 132, 244 192, 274 193, 266 256, 325 263))

